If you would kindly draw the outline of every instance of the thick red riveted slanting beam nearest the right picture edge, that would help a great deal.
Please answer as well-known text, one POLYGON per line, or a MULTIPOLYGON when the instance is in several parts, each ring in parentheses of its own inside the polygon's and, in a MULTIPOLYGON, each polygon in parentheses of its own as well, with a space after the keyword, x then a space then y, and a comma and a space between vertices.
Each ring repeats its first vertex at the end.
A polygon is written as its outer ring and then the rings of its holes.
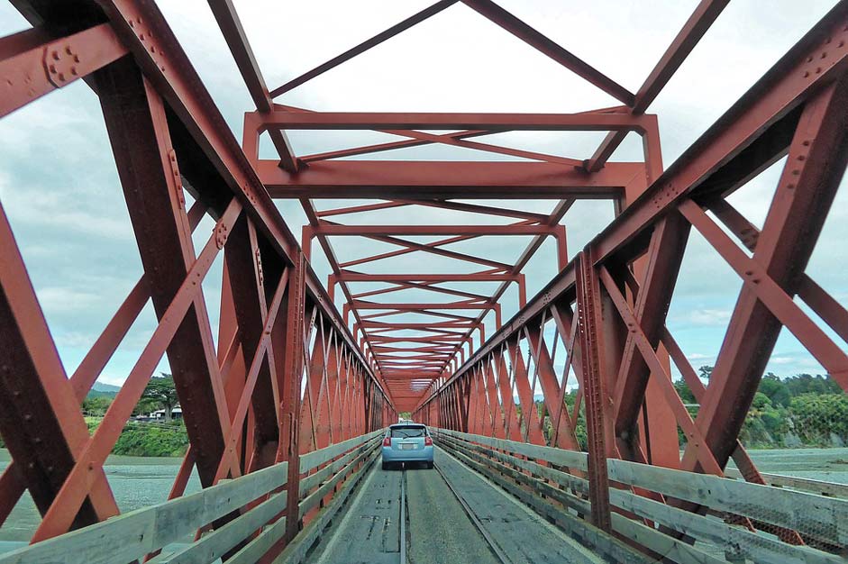
MULTIPOLYGON (((848 164, 848 112, 845 111, 848 97, 845 96, 845 85, 845 82, 831 85, 807 102, 789 149, 789 159, 780 177, 778 191, 753 253, 753 260, 760 271, 749 269, 742 275, 751 282, 743 285, 734 307, 727 336, 716 359, 714 378, 697 420, 698 426, 705 430, 707 446, 716 453, 721 465, 732 453, 730 445, 742 427, 781 326, 785 324, 790 331, 793 329, 789 323, 781 323, 764 296, 758 295, 758 285, 764 282, 762 277, 770 277, 789 296, 797 292, 798 272, 807 266, 848 164), (798 236, 799 232, 803 232, 804 236, 798 236), (722 401, 728 397, 734 398, 733 403, 722 401), (717 425, 716 421, 722 424, 717 425), (731 436, 732 441, 729 441, 731 436)), ((687 219, 708 241, 720 245, 705 228, 706 214, 698 214, 696 219, 689 208, 692 206, 681 209, 687 219)), ((717 227, 711 229, 717 233, 717 227)), ((722 249, 719 251, 722 252, 722 249)), ((767 291, 774 294, 768 285, 764 285, 761 292, 767 291)), ((805 333, 810 340, 822 341, 815 332, 805 333)), ((803 343, 804 339, 801 338, 801 341, 803 343)), ((810 344, 813 343, 805 343, 807 350, 811 350, 810 344)), ((838 359, 839 353, 835 356, 834 366, 827 367, 830 368, 828 373, 841 385, 848 386, 848 366, 844 358, 838 359)), ((841 356, 844 357, 843 354, 841 356)), ((684 465, 684 468, 694 467, 692 449, 687 449, 684 465)))

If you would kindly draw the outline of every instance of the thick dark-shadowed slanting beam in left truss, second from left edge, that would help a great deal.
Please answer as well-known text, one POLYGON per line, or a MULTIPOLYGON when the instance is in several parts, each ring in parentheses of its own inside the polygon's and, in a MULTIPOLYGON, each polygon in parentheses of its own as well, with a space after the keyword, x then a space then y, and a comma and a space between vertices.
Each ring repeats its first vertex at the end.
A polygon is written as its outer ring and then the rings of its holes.
MULTIPOLYGON (((165 106, 130 59, 105 69, 97 82, 141 262, 162 319, 195 261, 165 106)), ((223 453, 227 412, 202 296, 179 326, 168 358, 179 396, 192 398, 184 406, 186 421, 198 473, 209 486, 223 453)))

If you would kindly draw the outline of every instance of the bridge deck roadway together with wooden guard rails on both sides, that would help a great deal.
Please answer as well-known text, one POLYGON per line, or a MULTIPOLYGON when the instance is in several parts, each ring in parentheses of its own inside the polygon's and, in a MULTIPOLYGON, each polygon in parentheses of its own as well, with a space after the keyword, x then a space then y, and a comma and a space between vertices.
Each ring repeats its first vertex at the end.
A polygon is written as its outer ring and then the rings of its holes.
MULTIPOLYGON (((770 475, 785 486, 771 487, 608 459, 610 534, 587 519, 585 452, 433 428, 435 469, 384 471, 382 434, 300 459, 297 532, 275 563, 845 562, 848 492, 839 484, 770 475), (673 500, 705 509, 690 513, 673 500), (788 531, 804 542, 789 542, 788 531)), ((223 480, 0 554, 0 564, 148 554, 150 564, 270 561, 264 556, 285 541, 288 470, 284 462, 223 480)))

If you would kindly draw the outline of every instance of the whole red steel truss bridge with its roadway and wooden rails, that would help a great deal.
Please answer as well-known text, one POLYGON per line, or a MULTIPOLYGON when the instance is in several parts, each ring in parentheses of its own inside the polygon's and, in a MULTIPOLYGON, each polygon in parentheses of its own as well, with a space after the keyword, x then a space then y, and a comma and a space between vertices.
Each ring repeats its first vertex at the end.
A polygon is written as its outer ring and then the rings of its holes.
POLYGON ((40 517, 0 563, 845 561, 848 487, 761 472, 739 437, 781 332, 848 389, 848 311, 807 273, 848 159, 848 2, 668 167, 649 110, 727 1, 701 0, 632 92, 492 0, 436 2, 278 86, 232 0, 209 0, 253 102, 241 141, 151 0, 12 5, 32 28, 0 38, 0 117, 87 83, 143 274, 71 372, 0 214, 0 523, 24 498, 40 517), (614 105, 283 103, 460 9, 614 105), (391 141, 296 154, 290 138, 315 131, 391 141), (507 132, 605 136, 564 156, 500 144, 507 132), (611 159, 628 136, 641 158, 611 159), (428 146, 476 159, 410 159, 428 146), (754 221, 728 198, 773 166, 754 221), (302 207, 300 233, 275 200, 302 207), (568 249, 581 200, 614 218, 568 249), (739 283, 708 382, 666 323, 695 237, 739 283), (555 276, 533 296, 534 256, 555 276), (216 260, 220 305, 203 285, 216 260), (89 432, 80 405, 148 304, 155 329, 89 432), (163 359, 190 446, 160 503, 122 512, 105 460, 163 359), (401 415, 430 426, 435 470, 378 468, 401 415))

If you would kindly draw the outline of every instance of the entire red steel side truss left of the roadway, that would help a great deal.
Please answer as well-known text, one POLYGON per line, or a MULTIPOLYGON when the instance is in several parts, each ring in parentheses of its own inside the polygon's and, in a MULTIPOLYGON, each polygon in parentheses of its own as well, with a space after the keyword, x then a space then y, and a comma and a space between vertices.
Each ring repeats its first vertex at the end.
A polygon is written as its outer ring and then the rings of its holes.
MULTIPOLYGON (((2 114, 87 81, 103 107, 144 274, 67 378, 0 215, 8 367, 0 434, 13 457, 0 476, 0 523, 27 489, 42 515, 32 541, 118 513, 103 464, 163 355, 191 443, 170 496, 182 495, 195 467, 209 487, 280 461, 296 491, 300 454, 396 417, 384 385, 155 6, 20 4, 36 27, 0 43, 2 114), (206 214, 214 231, 195 250, 191 234, 206 214), (220 255, 215 350, 202 283, 220 255), (148 302, 158 326, 89 436, 80 404, 148 302)), ((287 514, 297 514, 297 496, 289 501, 287 514)), ((287 524, 290 539, 298 519, 287 524)))

